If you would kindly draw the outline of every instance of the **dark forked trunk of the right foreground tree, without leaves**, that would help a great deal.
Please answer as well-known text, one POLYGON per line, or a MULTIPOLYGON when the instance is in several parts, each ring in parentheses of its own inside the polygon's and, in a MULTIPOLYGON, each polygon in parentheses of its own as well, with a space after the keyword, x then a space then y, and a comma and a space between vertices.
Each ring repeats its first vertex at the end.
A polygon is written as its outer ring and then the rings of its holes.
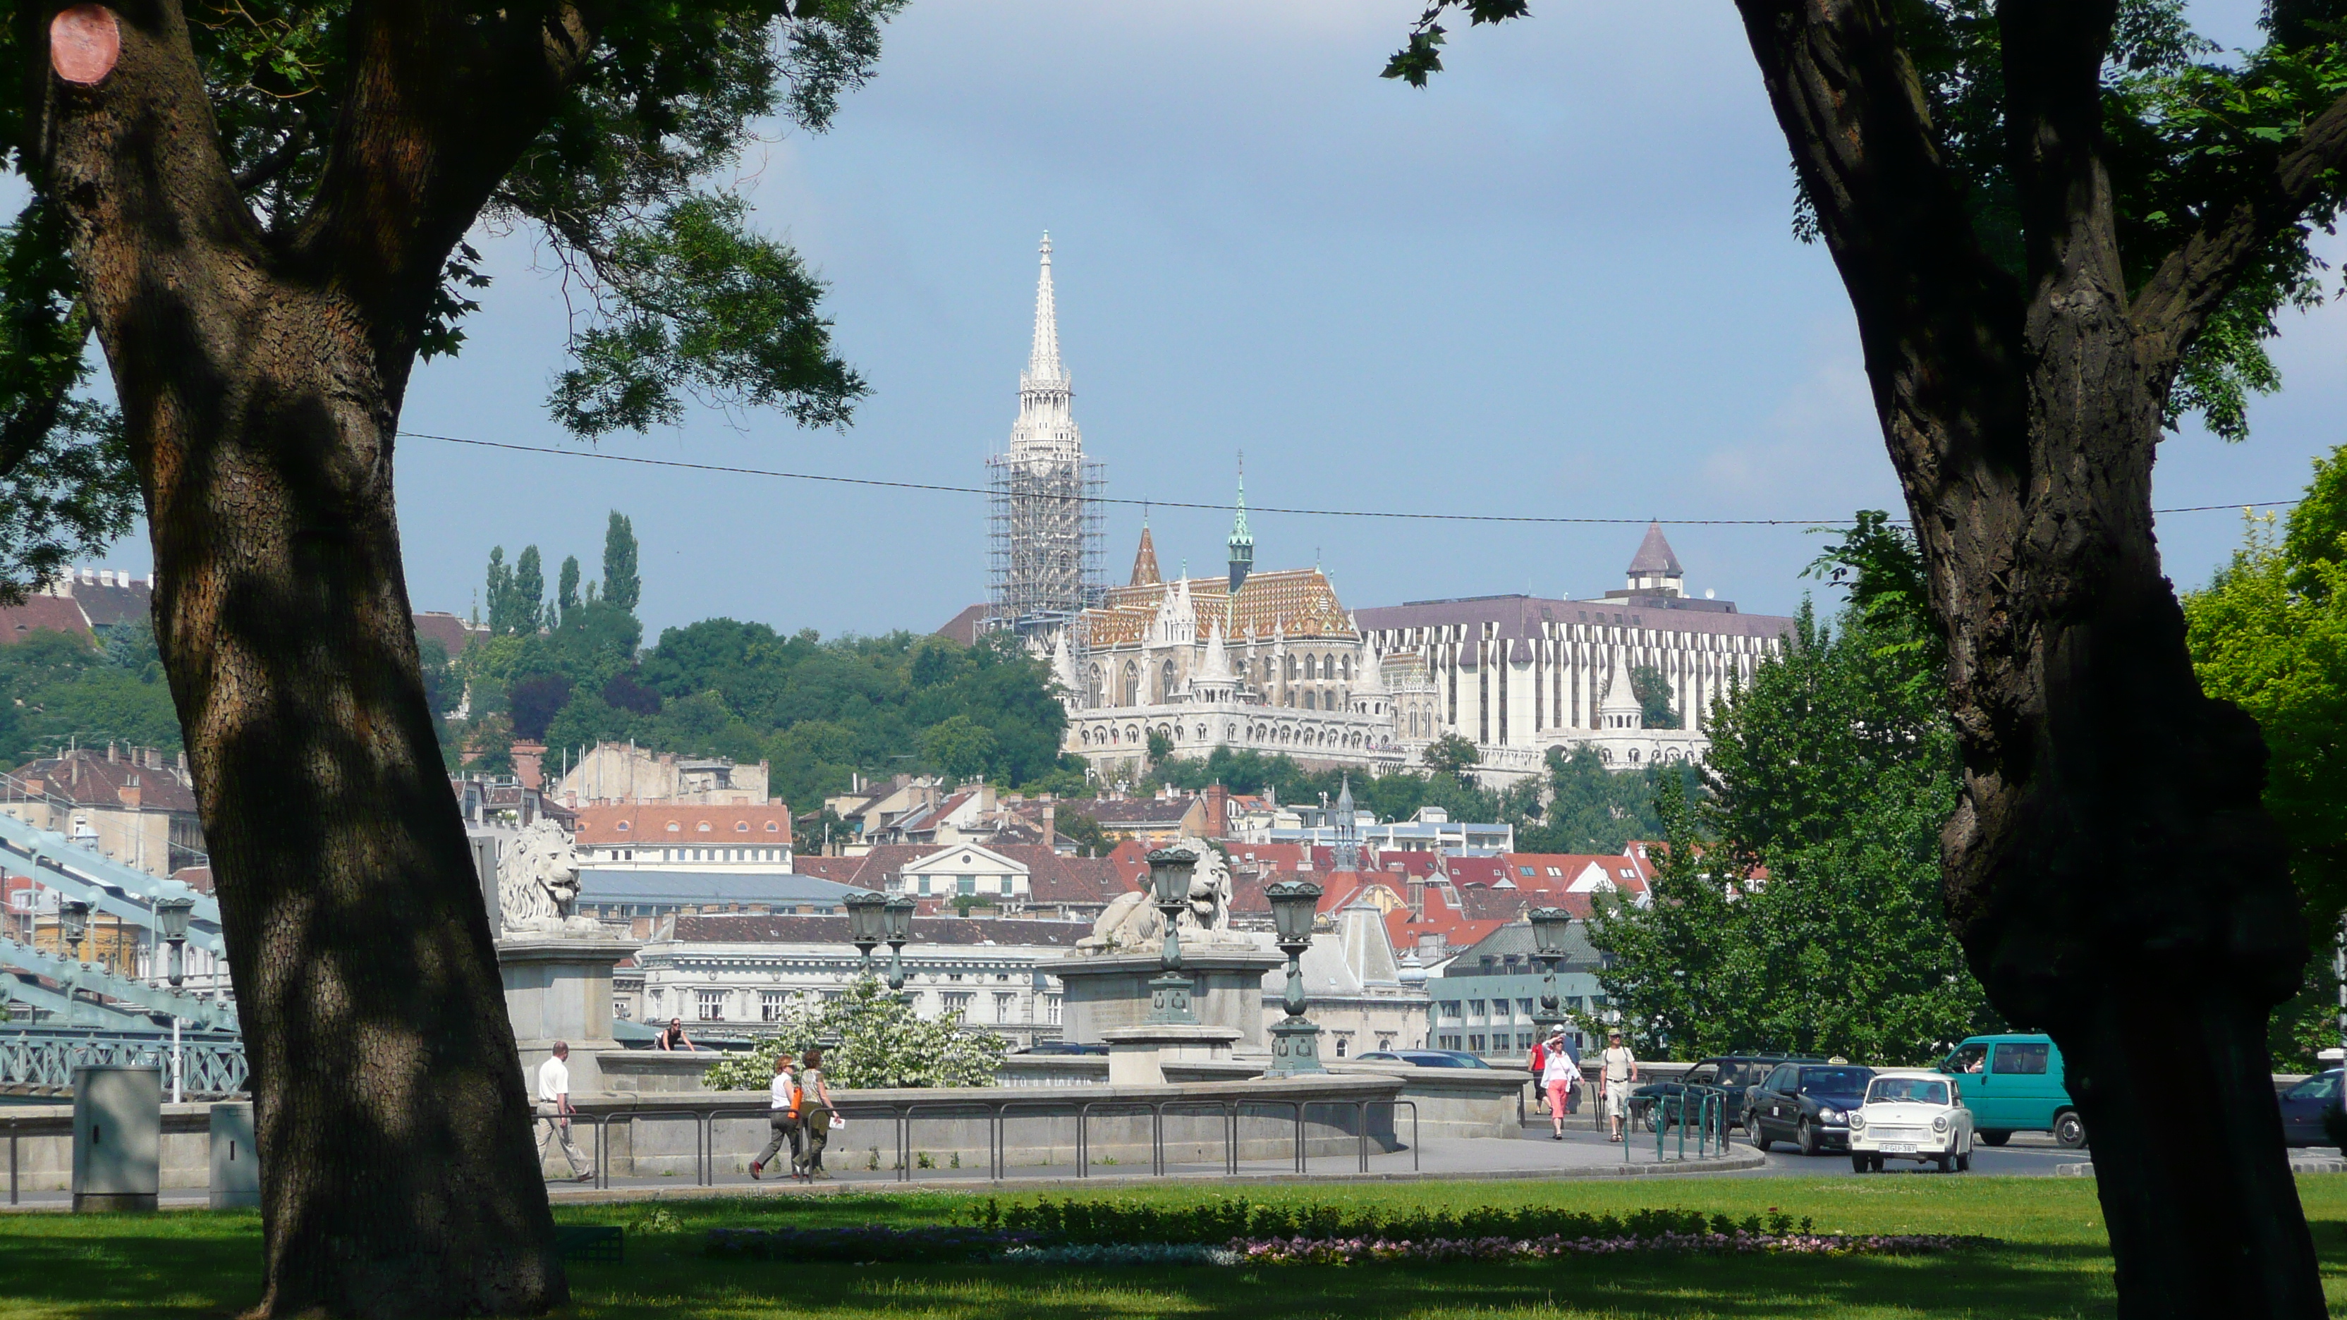
POLYGON ((2065 1055, 2119 1313, 2324 1315, 2267 1080, 2267 1010, 2307 944, 2265 747, 2201 695, 2152 536, 2162 402, 2197 331, 2176 308, 2206 315, 2225 280, 2211 258, 2164 282, 2157 324, 2129 303, 2101 160, 2112 5, 2000 9, 2025 280, 1981 251, 1887 5, 1739 7, 1948 629, 1948 916, 1997 1010, 2065 1055))

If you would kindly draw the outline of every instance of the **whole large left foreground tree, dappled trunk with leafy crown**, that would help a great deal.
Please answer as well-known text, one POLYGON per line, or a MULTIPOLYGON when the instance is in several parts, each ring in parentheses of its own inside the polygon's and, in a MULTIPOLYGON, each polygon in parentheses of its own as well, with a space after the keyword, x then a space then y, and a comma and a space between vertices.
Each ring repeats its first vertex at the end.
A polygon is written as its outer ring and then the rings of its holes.
POLYGON ((9 5, 0 498, 94 493, 0 568, 103 531, 108 479, 143 498, 253 1066, 261 1313, 566 1297, 392 510, 408 373, 481 284, 462 240, 535 225, 566 268, 575 432, 678 390, 845 420, 817 282, 695 188, 777 110, 819 127, 897 2, 9 5), (75 395, 87 334, 120 423, 75 395))

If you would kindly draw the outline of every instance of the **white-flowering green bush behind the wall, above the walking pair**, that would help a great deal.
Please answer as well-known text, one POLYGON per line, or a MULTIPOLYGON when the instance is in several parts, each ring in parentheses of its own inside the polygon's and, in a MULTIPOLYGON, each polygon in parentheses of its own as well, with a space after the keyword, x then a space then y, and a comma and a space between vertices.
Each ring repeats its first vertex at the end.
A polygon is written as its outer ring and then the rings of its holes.
POLYGON ((805 1055, 817 1045, 824 1045, 824 1080, 836 1090, 993 1085, 1009 1050, 993 1031, 962 1031, 960 1012, 918 1017, 878 977, 857 977, 840 998, 791 1010, 756 1050, 716 1062, 702 1085, 765 1090, 775 1080, 775 1055, 805 1055))

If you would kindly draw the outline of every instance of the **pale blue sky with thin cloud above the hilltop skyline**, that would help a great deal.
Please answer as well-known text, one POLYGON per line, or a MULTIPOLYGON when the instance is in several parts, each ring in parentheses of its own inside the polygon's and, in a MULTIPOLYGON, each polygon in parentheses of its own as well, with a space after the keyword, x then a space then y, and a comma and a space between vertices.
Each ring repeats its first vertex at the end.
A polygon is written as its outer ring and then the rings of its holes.
MULTIPOLYGON (((1535 5, 1462 31, 1425 92, 1378 78, 1418 0, 913 0, 828 134, 772 129, 721 183, 828 282, 873 388, 845 432, 697 409, 570 442, 545 395, 566 301, 530 235, 404 427, 575 453, 979 486, 1016 416, 1035 244, 1054 240, 1087 451, 1124 500, 1662 519, 1695 592, 1788 613, 1817 521, 1899 507, 1849 305, 1791 235, 1791 169, 1720 0, 1535 5), (1781 528, 1699 519, 1788 519, 1781 528)), ((2255 2, 2192 5, 2251 42, 2255 2)), ((2331 244, 2331 256, 2347 256, 2331 244)), ((2157 505, 2286 500, 2340 442, 2347 308, 2288 312, 2286 388, 2230 446, 2171 437, 2157 505)), ((491 545, 598 575, 608 510, 641 615, 927 632, 986 592, 986 505, 406 439, 418 608, 467 613, 491 545)), ((1622 585, 1641 526, 1253 514, 1256 564, 1347 606, 1622 585)), ((1110 505, 1124 580, 1141 510, 1110 505)), ((1155 510, 1171 573, 1218 573, 1227 512, 1155 510)), ((2232 510, 2159 519, 2204 582, 2232 510)), ((138 538, 108 559, 146 566, 138 538)))

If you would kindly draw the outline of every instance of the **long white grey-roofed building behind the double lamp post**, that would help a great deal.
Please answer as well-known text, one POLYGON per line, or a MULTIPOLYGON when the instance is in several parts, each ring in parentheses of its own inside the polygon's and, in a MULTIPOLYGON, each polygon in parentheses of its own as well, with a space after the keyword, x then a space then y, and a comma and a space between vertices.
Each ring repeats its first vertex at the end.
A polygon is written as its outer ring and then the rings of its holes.
MULTIPOLYGON (((613 979, 615 1010, 641 1022, 760 1031, 840 996, 864 972, 845 916, 678 916, 613 979)), ((1061 986, 1044 968, 1091 935, 1089 921, 913 918, 904 989, 920 1017, 960 1012, 1016 1045, 1058 1038, 1061 986)), ((887 970, 890 951, 875 951, 887 970)))

